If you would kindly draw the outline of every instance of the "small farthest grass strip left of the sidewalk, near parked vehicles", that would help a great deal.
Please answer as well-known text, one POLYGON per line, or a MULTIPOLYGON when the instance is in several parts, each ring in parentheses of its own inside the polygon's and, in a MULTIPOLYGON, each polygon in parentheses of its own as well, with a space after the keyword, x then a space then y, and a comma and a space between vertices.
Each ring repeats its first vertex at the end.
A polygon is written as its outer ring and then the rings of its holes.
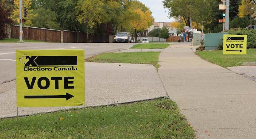
POLYGON ((136 44, 132 46, 132 49, 164 49, 167 48, 170 44, 167 43, 145 43, 145 44, 136 44))

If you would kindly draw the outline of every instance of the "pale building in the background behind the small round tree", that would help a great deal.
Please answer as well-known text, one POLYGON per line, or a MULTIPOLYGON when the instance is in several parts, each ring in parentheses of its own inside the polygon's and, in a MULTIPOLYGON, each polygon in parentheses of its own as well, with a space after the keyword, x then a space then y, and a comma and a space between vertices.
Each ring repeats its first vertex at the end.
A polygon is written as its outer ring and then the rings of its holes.
POLYGON ((177 28, 171 27, 173 22, 153 22, 153 25, 151 25, 147 30, 145 30, 146 36, 148 33, 155 29, 162 29, 164 26, 167 27, 169 30, 170 36, 177 36, 177 28))

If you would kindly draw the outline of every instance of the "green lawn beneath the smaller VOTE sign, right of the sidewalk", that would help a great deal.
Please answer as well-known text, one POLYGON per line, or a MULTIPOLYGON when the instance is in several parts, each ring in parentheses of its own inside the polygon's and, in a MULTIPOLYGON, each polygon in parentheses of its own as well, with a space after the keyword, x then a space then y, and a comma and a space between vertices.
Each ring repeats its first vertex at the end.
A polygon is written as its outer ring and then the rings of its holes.
POLYGON ((241 62, 256 62, 256 49, 247 49, 247 55, 223 54, 222 50, 197 51, 201 58, 222 67, 241 66, 241 62))

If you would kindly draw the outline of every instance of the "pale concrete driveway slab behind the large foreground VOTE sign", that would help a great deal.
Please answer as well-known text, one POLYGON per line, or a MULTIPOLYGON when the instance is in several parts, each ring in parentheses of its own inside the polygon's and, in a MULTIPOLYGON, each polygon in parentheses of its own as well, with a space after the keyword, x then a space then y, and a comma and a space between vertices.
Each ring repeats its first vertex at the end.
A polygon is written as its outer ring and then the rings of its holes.
MULTIPOLYGON (((16 85, 0 85, 0 118, 17 115, 16 85)), ((164 97, 166 92, 153 65, 85 63, 86 106, 110 105, 164 97)), ((83 106, 80 106, 83 107, 83 106)), ((18 115, 73 107, 18 108, 18 115)))

